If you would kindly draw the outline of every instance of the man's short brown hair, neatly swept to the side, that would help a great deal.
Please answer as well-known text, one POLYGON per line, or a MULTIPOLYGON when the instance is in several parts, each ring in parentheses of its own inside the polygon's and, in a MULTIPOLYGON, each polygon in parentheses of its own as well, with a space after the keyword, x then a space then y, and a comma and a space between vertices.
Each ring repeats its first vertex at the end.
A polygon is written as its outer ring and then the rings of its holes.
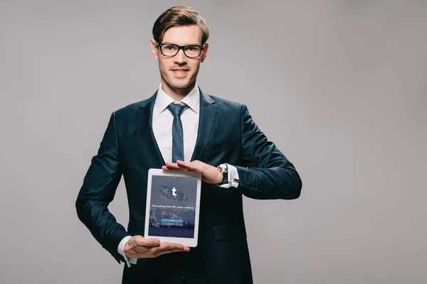
POLYGON ((209 29, 204 18, 191 7, 174 6, 162 13, 153 26, 153 38, 157 43, 162 43, 164 33, 175 26, 197 25, 201 29, 201 45, 209 38, 209 29))

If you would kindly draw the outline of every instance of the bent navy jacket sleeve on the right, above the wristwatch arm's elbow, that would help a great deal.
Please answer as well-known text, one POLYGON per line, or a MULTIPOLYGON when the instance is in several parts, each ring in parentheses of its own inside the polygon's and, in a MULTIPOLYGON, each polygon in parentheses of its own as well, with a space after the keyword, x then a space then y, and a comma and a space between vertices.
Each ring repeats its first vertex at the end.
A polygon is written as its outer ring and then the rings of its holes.
POLYGON ((302 182, 294 166, 268 141, 249 114, 241 109, 241 147, 246 166, 236 166, 243 195, 258 200, 300 197, 302 182))

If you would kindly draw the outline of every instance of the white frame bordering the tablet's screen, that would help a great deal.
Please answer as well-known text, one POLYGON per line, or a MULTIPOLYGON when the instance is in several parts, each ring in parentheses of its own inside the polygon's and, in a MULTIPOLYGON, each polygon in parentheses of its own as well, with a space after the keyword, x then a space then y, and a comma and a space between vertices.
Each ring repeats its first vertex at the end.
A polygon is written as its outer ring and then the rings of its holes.
POLYGON ((201 195, 201 174, 190 170, 162 170, 162 169, 149 169, 147 180, 147 202, 145 205, 145 225, 144 225, 144 238, 156 238, 160 241, 167 241, 169 243, 182 244, 184 246, 195 247, 197 246, 197 238, 199 236, 199 212, 200 212, 200 195, 201 195), (153 175, 163 175, 172 177, 192 177, 197 178, 197 192, 196 192, 196 216, 194 218, 194 237, 193 238, 179 238, 171 236, 150 236, 148 234, 149 225, 149 210, 151 208, 151 192, 152 192, 152 177, 153 175))

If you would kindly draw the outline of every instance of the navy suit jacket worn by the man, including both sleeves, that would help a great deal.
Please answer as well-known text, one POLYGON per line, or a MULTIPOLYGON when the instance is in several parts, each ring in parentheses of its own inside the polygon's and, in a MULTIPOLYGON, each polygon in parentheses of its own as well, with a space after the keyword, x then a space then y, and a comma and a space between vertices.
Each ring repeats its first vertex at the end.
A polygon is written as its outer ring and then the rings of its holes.
MULTIPOLYGON (((156 95, 112 113, 75 203, 79 219, 119 263, 120 241, 144 235, 147 172, 165 164, 152 132, 156 95), (107 209, 122 175, 127 229, 107 209)), ((191 160, 235 165, 239 186, 202 182, 198 246, 139 258, 131 268, 125 266, 122 283, 252 283, 242 195, 259 200, 300 196, 302 183, 294 166, 258 129, 244 104, 200 92, 199 133, 191 160)))

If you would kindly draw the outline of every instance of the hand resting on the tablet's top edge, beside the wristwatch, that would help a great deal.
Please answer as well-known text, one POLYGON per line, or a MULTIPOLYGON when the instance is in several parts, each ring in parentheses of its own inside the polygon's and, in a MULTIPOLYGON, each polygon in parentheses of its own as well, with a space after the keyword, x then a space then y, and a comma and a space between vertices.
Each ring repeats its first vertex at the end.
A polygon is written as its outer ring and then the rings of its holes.
POLYGON ((166 163, 162 166, 162 170, 193 170, 201 173, 201 180, 208 183, 220 183, 223 180, 223 175, 218 168, 200 160, 193 160, 190 163, 177 160, 176 163, 166 163))

